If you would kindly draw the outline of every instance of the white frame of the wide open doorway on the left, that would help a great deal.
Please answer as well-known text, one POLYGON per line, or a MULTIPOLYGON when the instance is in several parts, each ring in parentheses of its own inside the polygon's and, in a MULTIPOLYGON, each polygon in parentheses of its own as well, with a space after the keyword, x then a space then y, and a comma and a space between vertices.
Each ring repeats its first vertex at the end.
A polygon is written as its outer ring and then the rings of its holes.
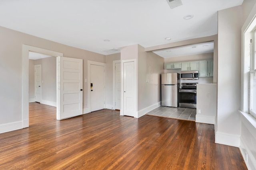
MULTIPOLYGON (((28 52, 32 51, 35 53, 41 53, 41 54, 45 54, 45 55, 51 55, 54 57, 63 57, 63 53, 59 53, 56 51, 51 51, 51 50, 47 50, 47 49, 42 49, 42 48, 38 48, 38 47, 33 47, 30 45, 25 45, 22 44, 22 127, 28 127, 29 126, 29 108, 28 108, 28 103, 29 103, 29 95, 28 95, 28 91, 29 91, 29 62, 28 62, 28 52)), ((58 65, 58 62, 57 62, 58 65)), ((56 78, 58 75, 58 67, 56 69, 56 78)), ((56 81, 56 88, 58 88, 58 81, 56 81)), ((57 90, 57 98, 58 98, 58 90, 57 90)), ((58 106, 58 100, 57 102, 57 106, 58 106)), ((57 108, 58 110, 58 108, 57 108)))

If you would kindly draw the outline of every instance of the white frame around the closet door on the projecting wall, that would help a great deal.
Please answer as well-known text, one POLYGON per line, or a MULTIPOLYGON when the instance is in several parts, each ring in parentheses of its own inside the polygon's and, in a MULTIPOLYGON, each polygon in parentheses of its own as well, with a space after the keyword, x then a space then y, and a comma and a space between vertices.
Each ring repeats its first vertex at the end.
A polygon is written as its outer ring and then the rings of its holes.
POLYGON ((121 109, 120 115, 124 115, 124 63, 127 62, 134 62, 134 102, 135 102, 135 112, 134 117, 138 118, 138 74, 137 74, 137 60, 136 59, 129 59, 129 60, 122 60, 121 61, 121 109))

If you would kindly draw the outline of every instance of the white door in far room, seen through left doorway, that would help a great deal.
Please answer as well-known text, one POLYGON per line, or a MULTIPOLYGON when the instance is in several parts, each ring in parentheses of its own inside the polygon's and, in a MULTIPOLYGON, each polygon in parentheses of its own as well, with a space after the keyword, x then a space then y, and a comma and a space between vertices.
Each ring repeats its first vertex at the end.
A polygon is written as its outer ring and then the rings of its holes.
POLYGON ((41 64, 35 65, 35 102, 41 103, 42 98, 42 76, 41 64))

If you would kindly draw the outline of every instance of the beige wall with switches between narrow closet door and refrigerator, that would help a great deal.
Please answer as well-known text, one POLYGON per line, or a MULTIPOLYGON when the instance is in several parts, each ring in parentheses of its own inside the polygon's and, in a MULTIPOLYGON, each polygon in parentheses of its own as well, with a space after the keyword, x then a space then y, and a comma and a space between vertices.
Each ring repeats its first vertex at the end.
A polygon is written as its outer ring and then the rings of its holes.
POLYGON ((144 51, 138 45, 138 111, 161 101, 160 74, 164 72, 164 58, 144 51))

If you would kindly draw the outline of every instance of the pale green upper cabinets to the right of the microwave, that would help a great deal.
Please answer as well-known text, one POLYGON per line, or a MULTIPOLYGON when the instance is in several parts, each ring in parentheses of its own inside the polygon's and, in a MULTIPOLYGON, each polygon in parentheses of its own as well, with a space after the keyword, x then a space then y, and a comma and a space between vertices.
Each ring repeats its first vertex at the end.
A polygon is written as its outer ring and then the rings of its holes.
POLYGON ((199 77, 213 76, 213 60, 199 61, 199 77))

